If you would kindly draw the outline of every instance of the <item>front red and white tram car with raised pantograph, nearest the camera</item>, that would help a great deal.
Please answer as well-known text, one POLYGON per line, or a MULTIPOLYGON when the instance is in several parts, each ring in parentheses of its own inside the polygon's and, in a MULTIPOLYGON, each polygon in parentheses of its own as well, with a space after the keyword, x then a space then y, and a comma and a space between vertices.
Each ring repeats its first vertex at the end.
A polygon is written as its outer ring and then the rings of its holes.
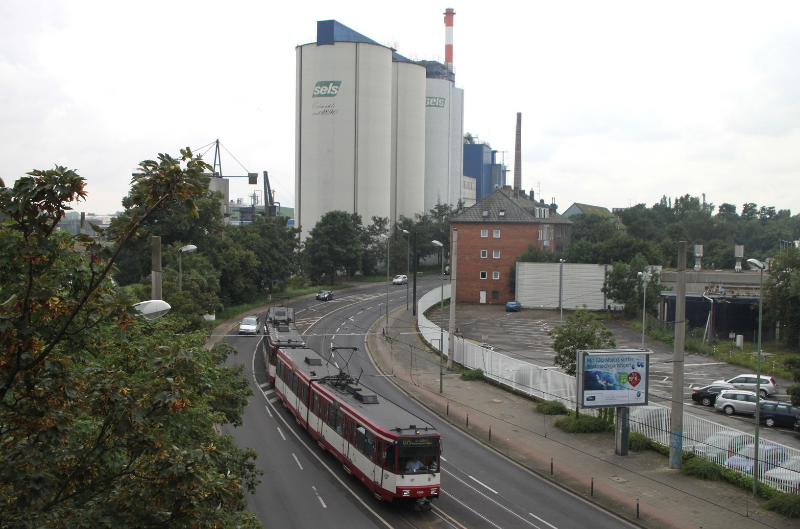
POLYGON ((375 497, 430 510, 439 496, 441 436, 345 372, 357 351, 333 347, 321 355, 308 347, 278 347, 275 391, 318 445, 375 497))

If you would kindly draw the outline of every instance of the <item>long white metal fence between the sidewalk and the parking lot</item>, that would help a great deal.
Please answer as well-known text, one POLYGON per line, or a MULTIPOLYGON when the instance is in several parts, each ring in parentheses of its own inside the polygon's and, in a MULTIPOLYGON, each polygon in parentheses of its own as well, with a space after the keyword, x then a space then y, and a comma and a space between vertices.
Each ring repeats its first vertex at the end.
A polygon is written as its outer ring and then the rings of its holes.
MULTIPOLYGON (((450 297, 450 285, 445 286, 444 298, 450 297)), ((447 355, 449 333, 442 330, 425 317, 425 311, 442 298, 439 289, 422 296, 417 304, 418 327, 422 337, 438 349, 440 340, 444 342, 443 351, 447 355), (443 339, 441 339, 441 338, 443 339)), ((578 384, 575 378, 555 371, 552 367, 538 366, 534 363, 515 359, 494 351, 489 345, 473 340, 455 337, 453 360, 468 369, 481 369, 487 378, 515 391, 545 400, 559 400, 566 407, 574 408, 578 402, 578 384)), ((582 411, 587 415, 597 415, 594 409, 582 411)), ((630 431, 638 431, 655 443, 670 446, 671 409, 659 404, 631 407, 630 431)), ((745 431, 701 419, 695 415, 683 414, 682 447, 694 455, 710 459, 714 463, 726 465, 737 452, 747 445, 753 446, 755 437, 745 431)), ((761 439, 758 443, 758 481, 784 492, 800 492, 800 450, 761 439), (786 463, 784 463, 786 462, 786 463), (772 471, 781 463, 792 465, 794 474, 787 471, 772 471), (794 477, 793 477, 794 476, 794 477)), ((742 472, 752 473, 753 459, 745 457, 742 472), (750 470, 748 471, 748 467, 750 470)))

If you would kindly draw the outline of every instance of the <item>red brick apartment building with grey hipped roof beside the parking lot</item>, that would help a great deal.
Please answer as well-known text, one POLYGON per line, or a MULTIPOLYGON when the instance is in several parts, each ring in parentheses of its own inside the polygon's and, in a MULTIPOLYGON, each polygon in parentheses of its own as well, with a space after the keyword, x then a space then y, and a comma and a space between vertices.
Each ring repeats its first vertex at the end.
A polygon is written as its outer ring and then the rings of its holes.
POLYGON ((530 245, 563 250, 572 239, 572 222, 556 213, 557 207, 503 186, 453 218, 450 230, 458 229, 455 300, 505 304, 514 299, 509 275, 518 256, 530 245))

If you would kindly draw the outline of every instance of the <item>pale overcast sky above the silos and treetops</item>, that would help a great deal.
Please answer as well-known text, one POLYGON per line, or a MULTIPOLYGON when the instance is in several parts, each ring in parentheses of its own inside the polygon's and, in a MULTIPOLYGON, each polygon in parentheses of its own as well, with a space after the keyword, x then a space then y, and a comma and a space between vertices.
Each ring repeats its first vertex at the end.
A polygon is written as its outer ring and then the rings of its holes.
POLYGON ((464 132, 522 187, 652 206, 683 194, 800 213, 800 2, 0 0, 0 178, 66 166, 74 209, 121 210, 138 162, 189 146, 230 178, 267 170, 294 206, 295 46, 335 19, 443 60, 453 7, 464 132), (501 154, 502 156, 502 154, 501 154))

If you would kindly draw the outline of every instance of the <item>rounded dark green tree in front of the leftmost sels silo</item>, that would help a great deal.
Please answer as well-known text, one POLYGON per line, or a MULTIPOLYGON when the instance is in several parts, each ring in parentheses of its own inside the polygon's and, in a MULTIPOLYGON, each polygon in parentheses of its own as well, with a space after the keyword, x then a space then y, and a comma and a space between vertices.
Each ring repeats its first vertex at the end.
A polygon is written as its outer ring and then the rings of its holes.
POLYGON ((350 214, 328 211, 309 231, 303 250, 312 279, 333 285, 337 271, 349 276, 361 266, 362 246, 350 214))

